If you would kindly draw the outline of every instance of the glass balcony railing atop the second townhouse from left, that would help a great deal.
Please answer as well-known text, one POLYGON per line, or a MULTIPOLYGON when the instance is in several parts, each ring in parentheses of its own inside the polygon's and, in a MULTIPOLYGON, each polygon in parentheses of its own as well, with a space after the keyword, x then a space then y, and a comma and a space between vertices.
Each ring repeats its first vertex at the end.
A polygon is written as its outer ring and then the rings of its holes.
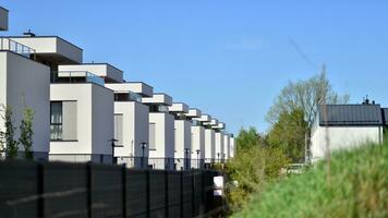
POLYGON ((105 86, 104 78, 87 71, 52 71, 51 83, 94 83, 105 86))

